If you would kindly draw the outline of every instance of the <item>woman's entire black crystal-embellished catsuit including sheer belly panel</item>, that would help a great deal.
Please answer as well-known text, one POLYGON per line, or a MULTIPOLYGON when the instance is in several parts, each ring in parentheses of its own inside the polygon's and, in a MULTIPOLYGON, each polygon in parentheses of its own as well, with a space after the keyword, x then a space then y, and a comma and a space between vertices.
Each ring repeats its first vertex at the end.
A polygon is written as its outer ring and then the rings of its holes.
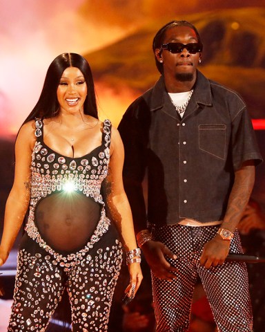
POLYGON ((36 120, 35 127, 30 208, 8 331, 45 331, 64 288, 72 331, 107 331, 122 260, 117 230, 101 195, 110 158, 110 121, 103 123, 101 145, 80 158, 50 149, 43 142, 43 122, 36 120))

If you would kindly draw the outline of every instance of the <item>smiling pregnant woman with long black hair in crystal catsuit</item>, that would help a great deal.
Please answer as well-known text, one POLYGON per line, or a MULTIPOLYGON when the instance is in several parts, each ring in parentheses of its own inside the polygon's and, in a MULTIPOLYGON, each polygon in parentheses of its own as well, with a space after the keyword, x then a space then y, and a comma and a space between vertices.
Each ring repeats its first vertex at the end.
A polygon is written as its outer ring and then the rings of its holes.
POLYGON ((46 331, 64 288, 72 331, 107 331, 122 259, 115 226, 127 252, 129 298, 142 275, 122 183, 124 148, 110 121, 98 120, 84 57, 63 53, 50 64, 39 101, 19 130, 15 155, 0 265, 27 210, 28 217, 8 331, 46 331), (103 183, 115 225, 106 216, 103 183))

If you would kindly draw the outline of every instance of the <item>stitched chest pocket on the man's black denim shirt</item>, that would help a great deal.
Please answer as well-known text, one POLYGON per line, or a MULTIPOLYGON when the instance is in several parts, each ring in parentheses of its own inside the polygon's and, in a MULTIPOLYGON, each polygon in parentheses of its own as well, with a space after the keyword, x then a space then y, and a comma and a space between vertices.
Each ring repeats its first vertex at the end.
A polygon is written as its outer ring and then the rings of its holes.
POLYGON ((199 124, 199 149, 224 160, 226 124, 199 124))

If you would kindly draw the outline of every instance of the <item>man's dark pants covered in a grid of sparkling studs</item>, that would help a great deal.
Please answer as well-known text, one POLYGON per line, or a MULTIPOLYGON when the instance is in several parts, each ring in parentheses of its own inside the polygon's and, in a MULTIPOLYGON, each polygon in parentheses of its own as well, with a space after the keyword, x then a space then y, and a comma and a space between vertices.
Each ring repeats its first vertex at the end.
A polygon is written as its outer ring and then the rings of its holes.
MULTIPOLYGON (((202 280, 218 331, 253 331, 246 264, 224 262, 209 269, 199 264, 204 243, 215 236, 218 228, 170 225, 153 231, 155 239, 165 243, 178 257, 175 261, 168 259, 178 269, 178 277, 173 282, 152 275, 157 332, 188 331, 197 277, 202 280)), ((230 252, 242 252, 237 232, 230 252)))

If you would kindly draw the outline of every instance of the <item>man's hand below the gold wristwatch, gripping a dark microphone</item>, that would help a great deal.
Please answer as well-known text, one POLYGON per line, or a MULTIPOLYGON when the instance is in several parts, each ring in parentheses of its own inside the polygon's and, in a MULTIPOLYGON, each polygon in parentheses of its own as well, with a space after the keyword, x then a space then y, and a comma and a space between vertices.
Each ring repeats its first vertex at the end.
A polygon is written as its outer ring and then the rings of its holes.
POLYGON ((230 241, 223 240, 219 234, 204 245, 204 250, 199 262, 205 268, 222 265, 228 255, 230 241))

